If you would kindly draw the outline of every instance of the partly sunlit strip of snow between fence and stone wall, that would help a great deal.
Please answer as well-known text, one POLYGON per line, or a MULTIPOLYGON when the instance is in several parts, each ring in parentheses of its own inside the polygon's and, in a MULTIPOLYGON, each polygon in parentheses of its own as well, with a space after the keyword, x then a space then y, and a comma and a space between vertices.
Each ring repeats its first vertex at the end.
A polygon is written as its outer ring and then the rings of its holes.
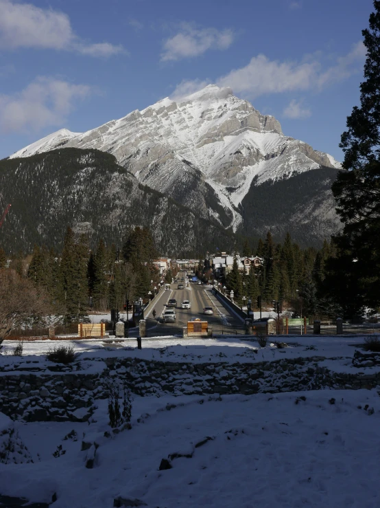
MULTIPOLYGON (((160 337, 142 340, 142 349, 137 349, 136 339, 122 339, 110 342, 109 340, 36 340, 23 343, 23 355, 43 356, 49 349, 58 346, 73 346, 81 353, 80 359, 96 360, 97 358, 112 356, 139 357, 145 360, 161 360, 163 362, 263 362, 281 360, 282 358, 297 357, 325 357, 325 362, 334 359, 331 364, 339 364, 339 368, 351 369, 351 360, 355 346, 364 343, 362 337, 342 336, 316 336, 316 335, 288 335, 285 340, 287 346, 277 349, 275 338, 268 340, 267 346, 261 348, 252 338, 225 337, 225 338, 178 338, 160 337), (342 358, 342 360, 336 360, 342 358), (345 367, 344 367, 345 366, 345 367)), ((6 341, 3 349, 12 353, 18 343, 6 341)), ((35 359, 34 359, 35 360, 35 359)), ((0 355, 0 366, 3 363, 20 363, 20 357, 0 355)), ((326 364, 327 366, 327 364, 326 364)), ((375 367, 373 367, 375 368, 375 367)))

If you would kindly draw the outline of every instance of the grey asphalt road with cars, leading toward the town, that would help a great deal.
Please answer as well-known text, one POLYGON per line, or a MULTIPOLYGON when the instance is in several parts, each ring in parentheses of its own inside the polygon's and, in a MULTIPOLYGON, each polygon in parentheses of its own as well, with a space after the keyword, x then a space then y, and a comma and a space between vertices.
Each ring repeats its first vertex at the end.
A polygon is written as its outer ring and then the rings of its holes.
MULTIPOLYGON (((184 276, 183 273, 178 274, 178 280, 184 276)), ((162 291, 161 296, 158 298, 154 309, 156 310, 156 318, 161 318, 163 312, 167 307, 167 301, 170 298, 177 300, 176 307, 176 320, 177 322, 187 322, 191 318, 200 318, 202 321, 208 322, 219 322, 226 326, 241 326, 243 322, 238 316, 235 316, 233 311, 224 307, 219 300, 213 295, 211 287, 206 285, 200 285, 197 283, 189 283, 185 289, 178 289, 178 284, 174 283, 170 285, 169 291, 162 291), (191 309, 181 309, 181 303, 183 300, 189 300, 191 302, 191 309), (213 316, 207 316, 203 313, 204 307, 213 307, 213 316)), ((184 283, 185 284, 185 283, 184 283)), ((153 318, 153 309, 147 313, 145 318, 153 318)), ((161 319, 160 319, 161 320, 161 319)))

